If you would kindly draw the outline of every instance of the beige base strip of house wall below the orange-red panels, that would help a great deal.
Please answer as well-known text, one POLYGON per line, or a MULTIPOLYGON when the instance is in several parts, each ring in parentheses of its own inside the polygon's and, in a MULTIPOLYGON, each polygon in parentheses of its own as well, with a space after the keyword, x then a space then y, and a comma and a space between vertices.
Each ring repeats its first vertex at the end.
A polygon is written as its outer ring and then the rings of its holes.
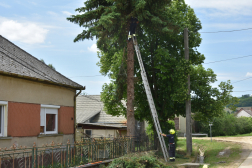
POLYGON ((51 135, 39 135, 37 137, 1 137, 0 138, 0 148, 10 148, 13 144, 15 146, 27 146, 32 147, 34 142, 36 146, 40 147, 46 144, 51 144, 52 141, 54 144, 62 143, 66 144, 69 140, 70 143, 74 143, 74 134, 51 134, 51 135))

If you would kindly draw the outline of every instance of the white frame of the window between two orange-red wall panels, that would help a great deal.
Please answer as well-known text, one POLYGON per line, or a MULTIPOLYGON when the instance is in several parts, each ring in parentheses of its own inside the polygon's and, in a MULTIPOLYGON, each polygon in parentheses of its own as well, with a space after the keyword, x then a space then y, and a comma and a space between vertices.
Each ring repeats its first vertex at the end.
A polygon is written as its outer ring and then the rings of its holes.
POLYGON ((59 108, 60 106, 56 106, 56 105, 46 105, 46 104, 41 104, 40 107, 40 126, 44 126, 44 131, 41 132, 40 134, 58 134, 58 113, 59 113, 59 108), (42 112, 42 109, 45 109, 44 114, 42 112), (56 112, 50 112, 50 111, 46 111, 46 109, 57 109, 56 112), (55 131, 46 131, 46 114, 55 114, 55 131), (42 125, 41 123, 41 115, 44 115, 44 120, 45 120, 45 124, 42 125))

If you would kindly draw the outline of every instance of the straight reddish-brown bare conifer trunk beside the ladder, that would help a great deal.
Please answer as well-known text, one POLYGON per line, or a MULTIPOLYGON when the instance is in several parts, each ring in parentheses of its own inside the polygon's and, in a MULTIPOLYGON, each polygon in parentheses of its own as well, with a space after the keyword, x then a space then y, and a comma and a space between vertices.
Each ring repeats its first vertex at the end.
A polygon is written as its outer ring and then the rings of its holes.
POLYGON ((134 46, 132 39, 127 44, 127 136, 135 136, 134 46))

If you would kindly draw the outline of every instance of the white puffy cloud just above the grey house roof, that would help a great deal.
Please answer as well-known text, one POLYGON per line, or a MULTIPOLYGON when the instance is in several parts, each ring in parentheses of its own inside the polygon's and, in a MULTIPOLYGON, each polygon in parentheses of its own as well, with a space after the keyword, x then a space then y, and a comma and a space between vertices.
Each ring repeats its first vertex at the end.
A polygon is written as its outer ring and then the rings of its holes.
POLYGON ((17 22, 0 18, 0 34, 12 41, 27 44, 43 43, 48 30, 32 22, 17 22))

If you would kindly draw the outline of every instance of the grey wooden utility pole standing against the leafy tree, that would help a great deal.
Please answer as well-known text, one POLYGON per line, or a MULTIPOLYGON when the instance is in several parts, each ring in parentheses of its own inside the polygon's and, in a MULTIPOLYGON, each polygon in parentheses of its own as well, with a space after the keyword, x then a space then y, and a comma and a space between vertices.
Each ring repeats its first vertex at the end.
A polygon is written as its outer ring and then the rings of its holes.
MULTIPOLYGON (((189 61, 189 40, 188 40, 188 28, 184 29, 184 46, 185 46, 185 59, 189 61)), ((187 78, 188 95, 190 97, 190 75, 187 78)), ((187 155, 192 154, 192 129, 191 129, 191 99, 186 100, 186 151, 187 155)))

